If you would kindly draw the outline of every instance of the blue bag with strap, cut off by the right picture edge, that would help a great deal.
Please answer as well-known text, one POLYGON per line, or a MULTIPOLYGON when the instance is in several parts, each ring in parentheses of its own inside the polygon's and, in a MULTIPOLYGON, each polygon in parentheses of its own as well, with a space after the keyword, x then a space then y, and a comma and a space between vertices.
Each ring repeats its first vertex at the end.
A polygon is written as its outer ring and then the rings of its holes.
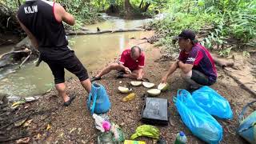
POLYGON ((245 114, 247 107, 252 105, 254 102, 250 102, 243 107, 242 113, 239 115, 240 125, 238 126, 237 131, 242 138, 245 138, 246 141, 251 144, 256 144, 256 110, 244 120, 242 120, 242 117, 243 114, 245 114))

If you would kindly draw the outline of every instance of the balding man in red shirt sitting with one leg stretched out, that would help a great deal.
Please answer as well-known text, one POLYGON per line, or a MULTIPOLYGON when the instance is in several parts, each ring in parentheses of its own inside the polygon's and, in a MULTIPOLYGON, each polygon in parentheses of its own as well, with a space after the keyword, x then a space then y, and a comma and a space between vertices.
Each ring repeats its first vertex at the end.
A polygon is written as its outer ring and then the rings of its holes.
POLYGON ((91 79, 91 82, 100 80, 102 75, 108 74, 111 70, 118 70, 118 78, 137 78, 143 77, 143 67, 145 62, 145 54, 138 46, 133 46, 131 49, 122 52, 120 62, 106 66, 98 75, 91 79))

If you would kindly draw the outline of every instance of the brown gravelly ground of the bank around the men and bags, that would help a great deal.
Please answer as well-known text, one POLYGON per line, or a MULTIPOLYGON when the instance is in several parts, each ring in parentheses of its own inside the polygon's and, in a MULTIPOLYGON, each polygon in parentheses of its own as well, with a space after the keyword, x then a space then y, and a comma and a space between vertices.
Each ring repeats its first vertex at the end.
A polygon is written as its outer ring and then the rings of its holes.
MULTIPOLYGON (((144 37, 149 38, 153 35, 153 32, 146 34, 144 37)), ((143 38, 143 37, 142 37, 143 38)), ((145 41, 145 40, 144 40, 145 41)), ((144 42, 139 39, 131 39, 130 46, 135 43, 144 42)), ((149 43, 143 43, 141 45, 146 52, 146 78, 150 79, 150 82, 154 82, 158 85, 162 75, 168 70, 171 61, 159 61, 162 56, 160 48, 155 48, 149 43)), ((96 72, 92 72, 92 75, 96 72)), ((98 81, 106 87, 108 94, 110 95, 111 109, 108 112, 111 122, 116 122, 122 127, 122 130, 126 134, 126 139, 130 138, 131 134, 134 134, 136 128, 142 125, 140 122, 140 111, 142 109, 142 94, 146 93, 146 88, 133 87, 136 98, 130 102, 121 102, 121 99, 126 94, 118 93, 118 86, 126 85, 126 82, 130 82, 130 79, 116 79, 116 72, 112 71, 98 81), (122 84, 120 84, 122 81, 122 84)), ((173 143, 175 135, 179 131, 184 131, 188 138, 188 143, 203 143, 201 140, 191 134, 190 130, 182 123, 182 120, 174 106, 172 101, 173 96, 176 95, 178 89, 186 89, 186 83, 180 78, 179 70, 177 70, 168 80, 170 83, 170 90, 160 94, 159 98, 168 98, 170 102, 170 122, 168 126, 158 126, 161 136, 166 139, 167 143, 173 143)), ((30 126, 26 128, 30 132, 31 143, 95 143, 98 130, 94 127, 94 119, 91 117, 90 112, 86 108, 86 94, 77 78, 71 79, 67 84, 68 94, 76 94, 77 98, 74 102, 68 106, 62 106, 62 98, 58 98, 56 90, 50 91, 50 93, 44 95, 38 102, 26 103, 20 110, 26 107, 26 110, 50 110, 46 114, 35 115, 30 123, 30 126), (49 127, 49 126, 50 127, 49 127), (48 130, 46 127, 48 126, 48 130)), ((214 90, 217 90, 224 98, 230 102, 230 106, 234 112, 234 119, 222 120, 218 119, 218 122, 223 126, 223 139, 221 143, 246 143, 235 132, 238 126, 238 113, 242 110, 242 107, 246 103, 253 101, 255 98, 249 94, 246 90, 243 90, 234 80, 223 73, 221 68, 218 68, 218 82, 211 86, 214 90)), ((255 110, 252 106, 249 111, 255 110)), ((144 140, 147 143, 153 143, 150 138, 138 138, 138 140, 144 140)))

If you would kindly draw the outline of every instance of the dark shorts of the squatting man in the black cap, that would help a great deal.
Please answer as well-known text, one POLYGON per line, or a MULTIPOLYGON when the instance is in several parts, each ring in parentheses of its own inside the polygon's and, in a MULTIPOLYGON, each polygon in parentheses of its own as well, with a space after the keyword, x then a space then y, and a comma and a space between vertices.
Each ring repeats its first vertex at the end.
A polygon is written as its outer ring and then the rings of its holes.
POLYGON ((213 85, 216 81, 211 81, 205 74, 202 74, 198 70, 192 70, 192 80, 203 86, 213 85))

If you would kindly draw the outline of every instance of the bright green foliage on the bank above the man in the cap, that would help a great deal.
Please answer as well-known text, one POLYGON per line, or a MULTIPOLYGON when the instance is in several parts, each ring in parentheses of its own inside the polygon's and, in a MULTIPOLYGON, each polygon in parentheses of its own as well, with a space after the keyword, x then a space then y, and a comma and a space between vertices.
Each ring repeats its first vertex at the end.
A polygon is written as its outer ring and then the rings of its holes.
MULTIPOLYGON (((150 26, 163 34, 160 42, 170 50, 175 50, 171 38, 182 30, 199 32, 209 26, 213 28, 201 43, 210 49, 222 50, 229 38, 238 40, 238 48, 256 45, 255 0, 170 0, 167 7, 167 17, 150 26)), ((220 54, 226 56, 230 50, 222 50, 220 54)))

